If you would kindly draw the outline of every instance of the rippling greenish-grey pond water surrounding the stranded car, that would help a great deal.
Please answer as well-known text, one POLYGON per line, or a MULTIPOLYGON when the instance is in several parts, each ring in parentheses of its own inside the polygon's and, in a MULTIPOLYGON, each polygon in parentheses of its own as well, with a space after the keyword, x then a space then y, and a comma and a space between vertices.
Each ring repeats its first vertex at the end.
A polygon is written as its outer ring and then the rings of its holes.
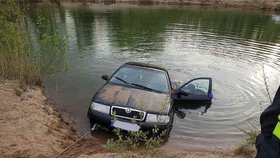
MULTIPOLYGON (((186 107, 162 148, 225 149, 258 122, 280 83, 279 15, 232 9, 151 6, 39 6, 67 35, 69 70, 46 79, 46 93, 89 130, 91 97, 127 61, 168 69, 174 82, 212 77, 210 107, 186 107), (267 85, 267 86, 266 86, 267 85), (268 91, 267 91, 268 89, 268 91)), ((35 12, 30 19, 35 26, 35 12)), ((258 124, 256 124, 258 126, 258 124)), ((110 134, 98 134, 104 140, 110 134)))

